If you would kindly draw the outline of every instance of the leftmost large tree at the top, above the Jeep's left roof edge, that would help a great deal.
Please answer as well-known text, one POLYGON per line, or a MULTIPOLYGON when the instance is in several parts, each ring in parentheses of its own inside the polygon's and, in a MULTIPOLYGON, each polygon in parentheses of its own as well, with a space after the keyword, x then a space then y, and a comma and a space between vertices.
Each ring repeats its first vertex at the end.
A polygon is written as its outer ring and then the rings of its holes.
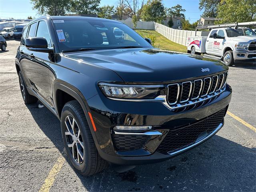
POLYGON ((32 9, 36 9, 38 14, 64 15, 70 10, 69 0, 30 0, 32 9))

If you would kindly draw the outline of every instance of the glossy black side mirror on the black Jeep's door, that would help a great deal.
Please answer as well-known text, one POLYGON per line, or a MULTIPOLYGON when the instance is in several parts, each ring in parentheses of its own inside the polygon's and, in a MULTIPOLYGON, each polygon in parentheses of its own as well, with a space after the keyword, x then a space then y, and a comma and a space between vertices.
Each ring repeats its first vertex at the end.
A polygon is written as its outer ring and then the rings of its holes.
POLYGON ((44 37, 32 37, 25 40, 25 46, 28 50, 37 52, 52 52, 53 49, 48 48, 48 42, 44 37))

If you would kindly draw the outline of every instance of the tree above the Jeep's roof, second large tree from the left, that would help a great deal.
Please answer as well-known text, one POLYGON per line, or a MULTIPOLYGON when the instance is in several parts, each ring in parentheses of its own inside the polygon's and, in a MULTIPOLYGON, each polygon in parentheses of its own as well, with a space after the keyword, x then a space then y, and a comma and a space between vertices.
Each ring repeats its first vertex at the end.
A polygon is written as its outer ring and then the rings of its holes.
POLYGON ((100 0, 70 0, 71 12, 76 14, 97 14, 100 0))

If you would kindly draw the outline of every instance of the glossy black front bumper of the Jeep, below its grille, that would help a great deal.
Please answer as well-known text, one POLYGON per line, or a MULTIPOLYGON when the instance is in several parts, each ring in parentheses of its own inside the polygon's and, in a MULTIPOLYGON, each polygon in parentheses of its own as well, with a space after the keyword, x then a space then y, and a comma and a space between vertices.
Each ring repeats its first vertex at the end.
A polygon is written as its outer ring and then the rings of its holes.
MULTIPOLYGON (((226 86, 226 90, 212 102, 196 109, 182 112, 174 112, 158 102, 115 101, 106 98, 103 94, 96 95, 87 100, 87 102, 97 128, 93 134, 95 134, 94 141, 98 152, 108 162, 120 165, 147 164, 172 158, 216 134, 223 126, 224 120, 222 119, 221 122, 216 124, 216 127, 209 134, 198 136, 196 142, 189 146, 164 152, 164 150, 159 150, 159 146, 164 143, 163 141, 167 138, 168 132, 196 124, 210 118, 210 116, 221 110, 226 113, 231 100, 231 92, 230 86, 226 86), (154 131, 161 134, 150 136, 150 139, 141 148, 134 148, 133 150, 121 148, 120 150, 114 140, 115 132, 113 127, 116 125, 153 126, 154 131)), ((139 139, 142 140, 142 138, 139 139)), ((122 146, 125 145, 123 144, 122 146)))

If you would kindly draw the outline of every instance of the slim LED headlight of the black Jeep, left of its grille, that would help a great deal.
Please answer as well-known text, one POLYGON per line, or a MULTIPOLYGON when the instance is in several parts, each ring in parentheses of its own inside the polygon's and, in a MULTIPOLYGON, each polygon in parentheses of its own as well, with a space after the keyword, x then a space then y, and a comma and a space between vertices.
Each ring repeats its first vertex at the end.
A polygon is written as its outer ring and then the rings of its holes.
POLYGON ((99 83, 106 97, 120 99, 154 99, 164 94, 164 85, 118 85, 99 83), (162 92, 161 92, 162 90, 162 92))

